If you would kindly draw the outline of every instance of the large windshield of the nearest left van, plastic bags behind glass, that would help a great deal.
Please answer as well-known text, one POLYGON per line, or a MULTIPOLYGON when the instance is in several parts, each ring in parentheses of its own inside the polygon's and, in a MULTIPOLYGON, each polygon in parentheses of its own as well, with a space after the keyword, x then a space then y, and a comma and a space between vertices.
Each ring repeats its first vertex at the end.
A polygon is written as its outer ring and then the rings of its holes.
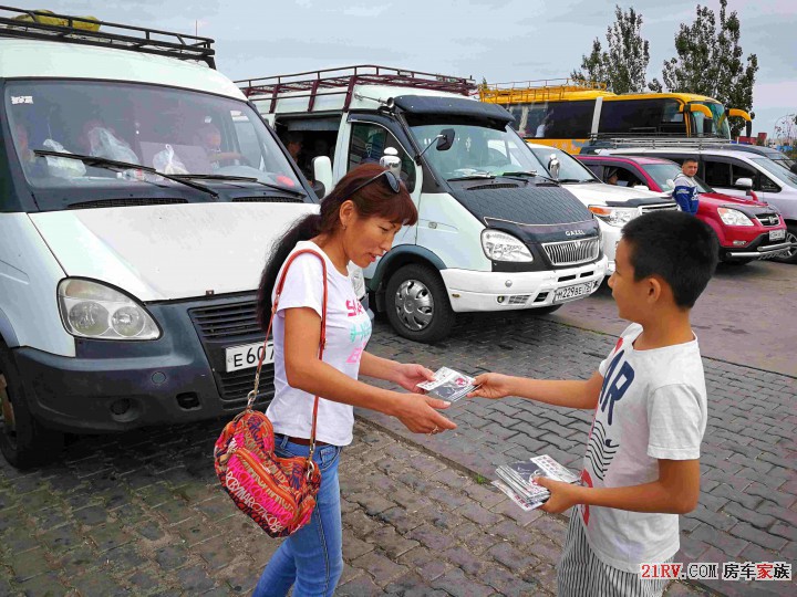
MULTIPOLYGON (((245 102, 154 85, 85 81, 12 81, 6 113, 32 187, 182 186, 156 174, 104 167, 141 165, 201 180, 244 177, 249 184, 301 189, 260 117, 245 102), (93 156, 84 163, 37 150, 93 156)), ((206 181, 203 181, 205 184, 206 181)), ((238 180, 236 184, 246 185, 238 180)), ((207 201, 207 193, 195 193, 207 201)))

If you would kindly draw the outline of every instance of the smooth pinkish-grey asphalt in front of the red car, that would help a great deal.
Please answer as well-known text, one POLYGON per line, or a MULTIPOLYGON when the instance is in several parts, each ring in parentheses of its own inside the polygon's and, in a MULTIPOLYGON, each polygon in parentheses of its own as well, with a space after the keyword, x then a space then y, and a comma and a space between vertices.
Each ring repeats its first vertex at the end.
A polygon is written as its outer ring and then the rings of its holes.
MULTIPOLYGON (((797 377, 797 266, 757 261, 720 264, 693 311, 703 356, 797 377)), ((590 298, 565 305, 556 322, 605 334, 620 334, 611 290, 604 284, 590 298)))

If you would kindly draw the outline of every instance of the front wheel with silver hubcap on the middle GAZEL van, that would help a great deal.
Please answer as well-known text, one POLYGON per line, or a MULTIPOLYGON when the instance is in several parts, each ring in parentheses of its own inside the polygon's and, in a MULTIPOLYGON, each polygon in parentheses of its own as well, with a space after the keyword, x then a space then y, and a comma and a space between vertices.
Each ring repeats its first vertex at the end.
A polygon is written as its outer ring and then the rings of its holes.
POLYGON ((426 344, 445 338, 454 327, 454 311, 439 274, 426 265, 400 268, 387 281, 385 310, 393 328, 426 344))

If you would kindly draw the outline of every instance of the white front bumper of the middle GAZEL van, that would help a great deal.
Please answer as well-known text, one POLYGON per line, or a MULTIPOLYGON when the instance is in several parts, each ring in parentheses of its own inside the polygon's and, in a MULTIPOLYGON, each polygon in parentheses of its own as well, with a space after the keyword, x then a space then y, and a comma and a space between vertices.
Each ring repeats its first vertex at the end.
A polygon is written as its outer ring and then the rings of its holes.
POLYGON ((457 313, 475 311, 517 311, 539 308, 583 298, 592 294, 607 274, 608 260, 541 272, 475 272, 446 269, 439 273, 457 313), (588 284, 586 293, 556 300, 556 291, 588 284))

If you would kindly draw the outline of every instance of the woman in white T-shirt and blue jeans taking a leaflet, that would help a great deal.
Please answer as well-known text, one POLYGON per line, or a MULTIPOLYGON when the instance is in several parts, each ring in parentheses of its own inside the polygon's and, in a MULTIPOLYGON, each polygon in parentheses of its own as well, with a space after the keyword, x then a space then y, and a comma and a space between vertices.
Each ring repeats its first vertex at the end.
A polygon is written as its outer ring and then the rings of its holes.
POLYGON ((396 417, 410 430, 436 433, 456 426, 435 409, 448 402, 416 387, 432 378, 420 365, 402 365, 365 352, 371 322, 354 294, 348 264, 365 268, 390 250, 402 226, 417 221, 404 185, 376 164, 351 170, 276 245, 260 281, 258 313, 263 327, 282 265, 296 250, 312 249, 327 263, 327 346, 318 358, 323 293, 321 262, 302 254, 290 265, 273 322, 275 397, 267 415, 273 423, 277 454, 308 455, 313 398, 319 401, 317 449, 321 489, 310 522, 288 537, 266 566, 255 597, 332 595, 343 572, 338 460, 352 441, 352 407, 396 417), (386 379, 416 394, 390 391, 362 381, 358 374, 386 379))

